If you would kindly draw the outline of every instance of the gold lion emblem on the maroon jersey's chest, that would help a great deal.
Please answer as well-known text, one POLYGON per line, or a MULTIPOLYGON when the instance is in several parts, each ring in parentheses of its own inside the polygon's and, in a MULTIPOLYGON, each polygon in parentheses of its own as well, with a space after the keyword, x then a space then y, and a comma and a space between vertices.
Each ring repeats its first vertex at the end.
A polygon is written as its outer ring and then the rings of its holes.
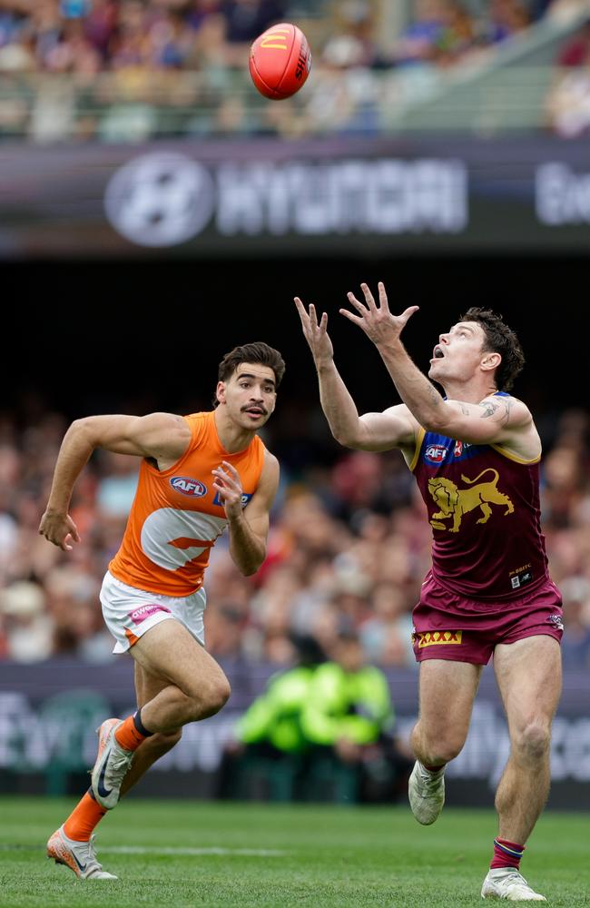
POLYGON ((475 479, 468 479, 467 476, 461 476, 464 482, 472 485, 472 489, 457 489, 452 479, 436 476, 428 479, 428 491, 435 504, 440 508, 438 513, 432 515, 430 524, 435 529, 447 529, 449 533, 458 533, 461 527, 461 519, 469 511, 481 508, 481 517, 477 523, 487 523, 492 516, 491 505, 505 505, 504 515, 514 513, 514 505, 510 498, 497 489, 497 480, 499 475, 496 469, 487 467, 483 469, 475 479), (473 486, 474 482, 481 479, 485 473, 493 473, 494 479, 488 482, 480 482, 473 486), (453 525, 441 523, 441 520, 453 518, 453 525))

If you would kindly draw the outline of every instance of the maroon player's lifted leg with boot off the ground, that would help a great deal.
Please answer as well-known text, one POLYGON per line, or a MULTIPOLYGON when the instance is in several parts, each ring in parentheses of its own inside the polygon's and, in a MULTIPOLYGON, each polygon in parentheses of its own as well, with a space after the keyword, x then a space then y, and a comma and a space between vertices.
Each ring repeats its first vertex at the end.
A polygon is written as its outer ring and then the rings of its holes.
POLYGON ((465 744, 482 666, 446 659, 420 663, 419 715, 410 743, 417 756, 408 797, 418 823, 434 823, 445 803, 445 766, 465 744))

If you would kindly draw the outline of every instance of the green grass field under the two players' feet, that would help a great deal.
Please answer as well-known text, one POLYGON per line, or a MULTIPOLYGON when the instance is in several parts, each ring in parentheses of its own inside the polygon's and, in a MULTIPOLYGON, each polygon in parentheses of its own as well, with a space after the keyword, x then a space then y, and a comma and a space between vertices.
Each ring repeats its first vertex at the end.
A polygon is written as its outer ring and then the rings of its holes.
MULTIPOLYGON (((0 905, 364 908, 481 905, 490 811, 419 826, 405 806, 129 801, 99 826, 116 881, 81 883, 44 843, 73 800, 0 798, 0 905)), ((590 905, 585 814, 544 814, 523 873, 550 905, 590 905)))

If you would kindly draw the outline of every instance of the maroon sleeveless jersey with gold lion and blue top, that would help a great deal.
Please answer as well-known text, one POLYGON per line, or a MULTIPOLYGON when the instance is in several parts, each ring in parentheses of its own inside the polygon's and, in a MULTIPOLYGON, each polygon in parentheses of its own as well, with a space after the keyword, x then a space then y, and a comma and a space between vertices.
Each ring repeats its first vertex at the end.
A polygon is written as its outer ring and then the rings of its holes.
POLYGON ((432 573, 469 599, 522 598, 548 579, 539 461, 421 429, 411 469, 432 527, 432 573))

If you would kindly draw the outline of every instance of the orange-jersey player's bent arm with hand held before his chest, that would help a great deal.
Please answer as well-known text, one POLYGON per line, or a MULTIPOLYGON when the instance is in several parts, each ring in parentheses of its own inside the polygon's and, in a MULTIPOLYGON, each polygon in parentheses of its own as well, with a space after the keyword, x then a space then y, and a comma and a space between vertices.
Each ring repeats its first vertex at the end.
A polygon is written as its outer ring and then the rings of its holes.
POLYGON ((264 452, 261 479, 246 508, 242 507, 240 474, 227 460, 213 470, 216 489, 228 518, 230 554, 241 574, 248 577, 266 558, 270 508, 279 488, 279 461, 264 452))

